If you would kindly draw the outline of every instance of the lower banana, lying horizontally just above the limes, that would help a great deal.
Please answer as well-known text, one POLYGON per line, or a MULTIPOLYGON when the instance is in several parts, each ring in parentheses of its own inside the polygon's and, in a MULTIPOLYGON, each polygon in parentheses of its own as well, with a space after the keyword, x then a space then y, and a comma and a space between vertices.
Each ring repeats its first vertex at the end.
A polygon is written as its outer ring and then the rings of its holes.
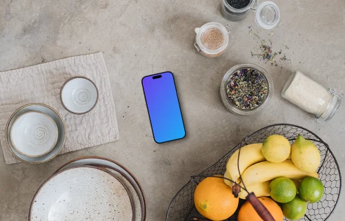
POLYGON ((301 171, 291 160, 286 160, 281 163, 264 161, 254 164, 253 166, 249 166, 242 174, 242 180, 246 186, 250 186, 267 180, 273 180, 277 177, 288 177, 293 180, 302 180, 306 176, 319 177, 315 171, 311 173, 301 171))

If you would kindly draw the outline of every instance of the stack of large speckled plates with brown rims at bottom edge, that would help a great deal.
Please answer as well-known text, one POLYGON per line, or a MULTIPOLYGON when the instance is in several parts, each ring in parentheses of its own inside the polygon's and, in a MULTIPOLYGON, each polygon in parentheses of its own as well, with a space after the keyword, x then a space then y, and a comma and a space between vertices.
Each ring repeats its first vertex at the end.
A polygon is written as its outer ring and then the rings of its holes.
POLYGON ((124 166, 81 157, 61 166, 32 199, 29 220, 146 220, 146 200, 124 166))

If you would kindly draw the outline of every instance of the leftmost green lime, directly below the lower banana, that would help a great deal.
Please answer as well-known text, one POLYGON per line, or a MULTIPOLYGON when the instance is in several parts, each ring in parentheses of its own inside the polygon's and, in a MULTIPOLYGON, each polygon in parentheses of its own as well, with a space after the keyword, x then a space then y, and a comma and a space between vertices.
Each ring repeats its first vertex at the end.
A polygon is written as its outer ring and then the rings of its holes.
POLYGON ((279 177, 270 182, 268 191, 273 200, 282 203, 290 202, 297 193, 295 183, 286 177, 279 177))

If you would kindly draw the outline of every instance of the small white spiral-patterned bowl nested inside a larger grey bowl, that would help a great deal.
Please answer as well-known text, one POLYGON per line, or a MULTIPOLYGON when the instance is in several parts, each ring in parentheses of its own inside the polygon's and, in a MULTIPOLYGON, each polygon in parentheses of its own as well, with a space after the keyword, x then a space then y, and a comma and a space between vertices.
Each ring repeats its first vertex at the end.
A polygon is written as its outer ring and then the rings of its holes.
POLYGON ((52 117, 39 111, 29 111, 14 121, 10 137, 19 153, 39 157, 54 148, 58 134, 57 124, 52 117))

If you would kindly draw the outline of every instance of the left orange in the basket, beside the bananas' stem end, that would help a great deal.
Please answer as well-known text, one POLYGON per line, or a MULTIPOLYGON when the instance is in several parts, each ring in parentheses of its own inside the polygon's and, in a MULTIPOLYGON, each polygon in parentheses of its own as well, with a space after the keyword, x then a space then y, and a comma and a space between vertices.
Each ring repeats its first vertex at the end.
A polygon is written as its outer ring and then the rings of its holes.
POLYGON ((194 192, 197 211, 210 220, 226 220, 235 213, 238 202, 230 186, 216 177, 207 177, 201 181, 194 192))

